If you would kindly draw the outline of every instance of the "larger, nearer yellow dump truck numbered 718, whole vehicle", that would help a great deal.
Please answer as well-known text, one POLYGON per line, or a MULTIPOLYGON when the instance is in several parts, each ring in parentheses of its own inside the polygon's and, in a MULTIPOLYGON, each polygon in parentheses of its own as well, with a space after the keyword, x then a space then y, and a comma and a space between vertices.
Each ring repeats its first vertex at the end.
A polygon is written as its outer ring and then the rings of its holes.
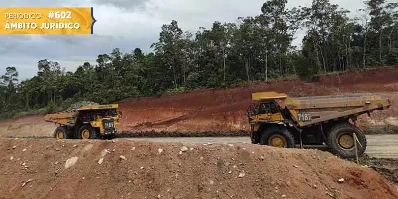
POLYGON ((390 100, 372 95, 289 98, 266 92, 252 94, 252 100, 248 109, 252 143, 283 148, 326 144, 343 158, 356 156, 356 143, 358 155, 365 152, 365 134, 352 124, 358 115, 390 107, 390 100))

